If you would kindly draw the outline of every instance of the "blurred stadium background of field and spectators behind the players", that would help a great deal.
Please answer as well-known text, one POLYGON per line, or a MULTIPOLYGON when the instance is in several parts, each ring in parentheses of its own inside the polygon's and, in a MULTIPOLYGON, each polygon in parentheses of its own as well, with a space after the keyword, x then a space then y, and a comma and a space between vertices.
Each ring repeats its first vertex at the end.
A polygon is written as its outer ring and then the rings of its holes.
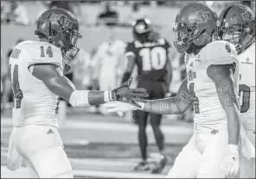
MULTIPOLYGON (((199 1, 197 1, 199 2, 199 1)), ((202 2, 202 1, 201 1, 202 2)), ((69 74, 80 90, 99 89, 99 46, 111 39, 121 40, 125 44, 132 40, 131 22, 138 17, 146 16, 164 38, 172 44, 174 34, 172 24, 176 14, 189 1, 80 1, 80 2, 18 2, 1 1, 1 177, 28 177, 25 168, 16 172, 6 169, 6 156, 11 131, 12 94, 7 64, 12 48, 21 40, 36 40, 34 36, 36 18, 48 8, 62 7, 70 9, 80 21, 83 34, 79 46, 80 55, 74 59, 73 72, 69 74), (106 6, 115 12, 114 22, 101 21, 106 6), (95 62, 97 61, 97 62, 95 62)), ((205 3, 204 1, 202 3, 205 3)), ((221 12, 230 4, 246 3, 255 12, 255 2, 216 1, 212 7, 221 12)), ((182 55, 175 50, 171 64, 173 77, 170 84, 170 96, 175 95, 184 77, 182 55)), ((110 64, 111 65, 111 64, 110 64)), ((102 68, 101 68, 102 69, 102 68)), ((107 66, 105 67, 107 69, 107 66)), ((120 55, 120 64, 115 68, 120 83, 125 71, 125 59, 120 55)), ((107 73, 107 70, 106 70, 107 73)), ((136 73, 134 73, 136 76, 136 73)), ((136 84, 136 80, 132 85, 136 84)), ((60 108, 67 113, 60 116, 60 133, 65 151, 70 158, 75 177, 165 177, 174 163, 182 146, 193 132, 193 115, 165 115, 162 121, 166 140, 166 151, 170 156, 167 167, 161 174, 152 175, 150 171, 134 172, 133 168, 140 160, 138 148, 138 127, 131 122, 131 113, 106 114, 103 108, 72 108, 62 102, 60 108)), ((157 146, 150 127, 147 127, 149 138, 150 162, 157 161, 157 146)), ((24 165, 23 165, 24 166, 24 165)))

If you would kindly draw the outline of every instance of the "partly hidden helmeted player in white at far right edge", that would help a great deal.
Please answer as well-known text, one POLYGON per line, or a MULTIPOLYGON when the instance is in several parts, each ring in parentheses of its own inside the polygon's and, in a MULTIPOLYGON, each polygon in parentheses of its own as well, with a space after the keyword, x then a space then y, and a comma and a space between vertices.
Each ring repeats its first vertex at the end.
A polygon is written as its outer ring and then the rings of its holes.
MULTIPOLYGON (((241 124, 255 146, 255 14, 235 4, 221 12, 218 25, 218 36, 233 43, 238 52, 241 124)), ((240 177, 255 178, 255 158, 240 157, 240 177)))

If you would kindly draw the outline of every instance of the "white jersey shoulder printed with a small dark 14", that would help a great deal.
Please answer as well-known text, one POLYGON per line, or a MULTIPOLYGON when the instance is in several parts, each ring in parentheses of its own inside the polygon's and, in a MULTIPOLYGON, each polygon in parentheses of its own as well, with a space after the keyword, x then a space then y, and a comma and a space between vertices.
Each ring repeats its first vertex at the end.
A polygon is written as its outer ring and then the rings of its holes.
POLYGON ((54 64, 62 68, 61 48, 42 41, 25 41, 19 45, 29 53, 29 65, 54 64))

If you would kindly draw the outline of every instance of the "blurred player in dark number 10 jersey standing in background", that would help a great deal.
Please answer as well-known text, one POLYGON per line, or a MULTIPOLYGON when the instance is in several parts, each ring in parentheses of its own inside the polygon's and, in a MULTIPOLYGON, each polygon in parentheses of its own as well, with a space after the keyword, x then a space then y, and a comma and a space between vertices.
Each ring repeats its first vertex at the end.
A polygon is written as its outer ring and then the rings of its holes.
MULTIPOLYGON (((129 79, 133 67, 138 65, 138 87, 147 90, 150 95, 149 99, 163 98, 169 91, 172 74, 169 59, 171 46, 152 29, 149 19, 138 19, 132 25, 134 40, 128 43, 126 47, 125 56, 128 64, 123 82, 129 79)), ((138 141, 142 155, 142 161, 134 170, 150 170, 150 164, 147 162, 147 135, 145 131, 149 114, 140 110, 133 111, 132 114, 133 120, 138 124, 138 141)), ((161 119, 161 114, 150 114, 150 124, 162 156, 152 173, 161 172, 167 163, 163 132, 160 129, 161 119)))

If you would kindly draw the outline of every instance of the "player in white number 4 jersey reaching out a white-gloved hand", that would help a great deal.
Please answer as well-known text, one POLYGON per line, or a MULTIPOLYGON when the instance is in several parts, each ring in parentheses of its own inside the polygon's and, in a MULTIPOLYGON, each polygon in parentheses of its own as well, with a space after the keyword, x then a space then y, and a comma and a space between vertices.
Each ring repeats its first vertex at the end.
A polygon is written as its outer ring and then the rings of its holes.
MULTIPOLYGON (((214 10, 202 3, 191 3, 179 11, 174 43, 178 52, 189 54, 185 59, 187 79, 176 97, 147 100, 140 108, 156 114, 182 114, 194 104, 194 134, 176 157, 170 178, 223 178, 235 176, 239 170, 239 61, 233 44, 213 41, 216 22, 214 10)), ((122 102, 106 106, 109 112, 134 110, 122 102)))

